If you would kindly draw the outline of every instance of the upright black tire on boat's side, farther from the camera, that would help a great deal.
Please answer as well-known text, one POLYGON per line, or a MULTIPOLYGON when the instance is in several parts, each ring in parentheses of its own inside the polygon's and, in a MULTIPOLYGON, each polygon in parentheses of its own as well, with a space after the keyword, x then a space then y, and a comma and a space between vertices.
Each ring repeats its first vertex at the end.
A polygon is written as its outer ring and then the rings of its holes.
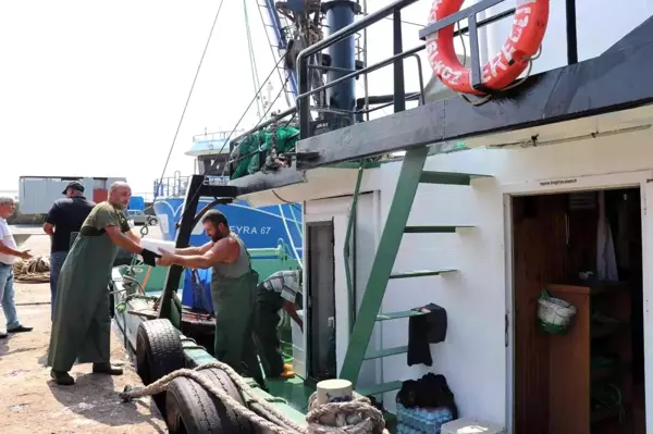
MULTIPOLYGON (((136 334, 136 372, 143 383, 147 386, 182 368, 184 348, 172 323, 164 319, 141 322, 136 334)), ((152 399, 165 416, 165 392, 152 399)))

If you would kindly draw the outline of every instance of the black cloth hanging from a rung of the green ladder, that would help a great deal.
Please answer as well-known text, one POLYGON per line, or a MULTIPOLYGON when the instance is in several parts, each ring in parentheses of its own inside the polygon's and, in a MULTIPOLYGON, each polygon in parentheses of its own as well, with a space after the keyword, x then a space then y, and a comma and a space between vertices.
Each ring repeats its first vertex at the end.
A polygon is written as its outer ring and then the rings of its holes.
POLYGON ((408 320, 408 365, 423 363, 430 367, 433 359, 429 344, 441 343, 446 337, 446 310, 433 303, 412 310, 424 314, 408 320))

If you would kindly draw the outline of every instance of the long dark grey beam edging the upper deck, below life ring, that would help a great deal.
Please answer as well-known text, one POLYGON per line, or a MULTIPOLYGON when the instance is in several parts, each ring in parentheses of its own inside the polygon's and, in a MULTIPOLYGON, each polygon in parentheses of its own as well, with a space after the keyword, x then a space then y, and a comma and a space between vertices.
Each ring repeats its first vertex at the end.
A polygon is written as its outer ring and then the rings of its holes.
POLYGON ((297 144, 297 165, 306 170, 432 144, 447 151, 460 139, 648 106, 653 103, 651 59, 653 41, 619 46, 532 76, 479 107, 454 97, 309 137, 297 144))

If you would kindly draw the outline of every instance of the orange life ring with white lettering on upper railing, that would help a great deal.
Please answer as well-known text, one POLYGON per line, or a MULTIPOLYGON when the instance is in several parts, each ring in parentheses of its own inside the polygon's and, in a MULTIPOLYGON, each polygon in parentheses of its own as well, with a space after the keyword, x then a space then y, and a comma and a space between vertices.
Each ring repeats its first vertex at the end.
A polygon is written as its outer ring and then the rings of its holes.
MULTIPOLYGON (((526 70, 538 52, 549 22, 550 0, 517 0, 513 30, 501 51, 481 67, 483 85, 501 90, 526 70)), ((434 0, 429 21, 445 18, 460 10, 463 0, 434 0)), ((454 25, 427 37, 429 62, 442 83, 461 94, 483 95, 471 87, 471 71, 463 66, 454 50, 454 25)))

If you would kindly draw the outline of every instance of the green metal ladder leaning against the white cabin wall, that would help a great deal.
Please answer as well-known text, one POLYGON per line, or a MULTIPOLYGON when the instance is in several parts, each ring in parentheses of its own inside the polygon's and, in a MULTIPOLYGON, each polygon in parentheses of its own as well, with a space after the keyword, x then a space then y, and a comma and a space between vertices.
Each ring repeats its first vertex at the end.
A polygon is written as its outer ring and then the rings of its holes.
MULTIPOLYGON (((387 356, 399 355, 408 351, 407 346, 385 348, 379 351, 367 352, 372 336, 374 324, 378 321, 390 321, 399 318, 421 315, 418 311, 402 311, 380 314, 381 303, 385 295, 387 282, 391 278, 409 278, 422 276, 435 276, 443 273, 455 272, 453 269, 441 270, 417 270, 406 272, 392 272, 399 245, 404 234, 444 234, 455 233, 458 227, 471 226, 407 226, 408 216, 412 208, 415 195, 419 184, 441 185, 470 185, 476 177, 488 177, 488 175, 476 175, 466 173, 430 172, 423 171, 424 162, 429 153, 428 147, 410 149, 406 151, 402 170, 397 179, 397 187, 392 199, 385 226, 381 234, 381 240, 377 248, 372 269, 365 288, 360 309, 356 315, 356 322, 349 336, 349 345, 341 379, 345 379, 356 385, 358 374, 365 360, 378 359, 387 356)), ((393 381, 374 385, 369 388, 357 388, 362 395, 377 395, 384 392, 395 390, 402 387, 401 381, 393 381)))

